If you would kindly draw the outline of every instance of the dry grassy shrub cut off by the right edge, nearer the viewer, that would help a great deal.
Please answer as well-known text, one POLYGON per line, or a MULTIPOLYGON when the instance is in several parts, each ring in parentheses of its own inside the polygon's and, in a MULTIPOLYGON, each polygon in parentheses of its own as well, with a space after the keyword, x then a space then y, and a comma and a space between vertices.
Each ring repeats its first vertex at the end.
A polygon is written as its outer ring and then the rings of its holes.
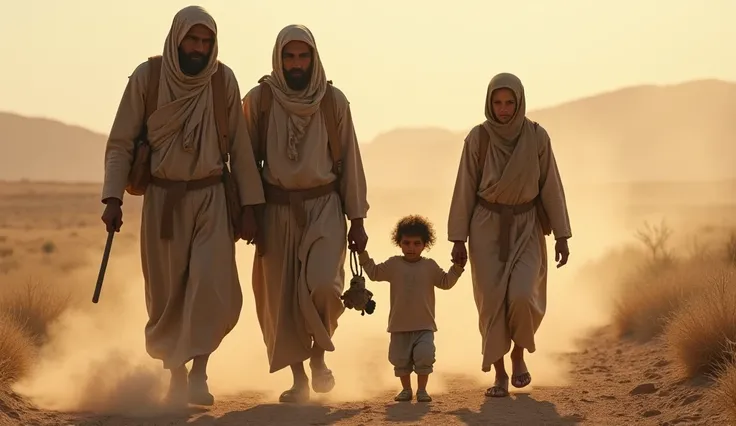
POLYGON ((688 303, 672 315, 665 329, 670 350, 686 374, 712 374, 734 356, 736 341, 736 279, 723 266, 701 272, 707 282, 688 303))

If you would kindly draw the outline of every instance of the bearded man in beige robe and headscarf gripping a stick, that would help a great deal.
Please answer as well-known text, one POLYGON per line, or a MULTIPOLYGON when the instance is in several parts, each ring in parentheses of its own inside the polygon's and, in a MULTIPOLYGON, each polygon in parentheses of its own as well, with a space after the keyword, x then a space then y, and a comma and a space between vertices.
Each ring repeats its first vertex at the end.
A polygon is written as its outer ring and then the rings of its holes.
POLYGON ((134 140, 147 124, 152 179, 141 221, 146 349, 171 371, 167 398, 173 403, 212 405, 207 361, 238 322, 243 303, 213 112, 211 77, 218 67, 223 67, 243 239, 254 238, 252 206, 265 200, 238 83, 230 68, 218 64, 217 45, 217 26, 204 9, 179 11, 164 44, 158 108, 143 123, 149 79, 144 62, 129 77, 105 152, 102 220, 108 232, 119 232, 134 140))

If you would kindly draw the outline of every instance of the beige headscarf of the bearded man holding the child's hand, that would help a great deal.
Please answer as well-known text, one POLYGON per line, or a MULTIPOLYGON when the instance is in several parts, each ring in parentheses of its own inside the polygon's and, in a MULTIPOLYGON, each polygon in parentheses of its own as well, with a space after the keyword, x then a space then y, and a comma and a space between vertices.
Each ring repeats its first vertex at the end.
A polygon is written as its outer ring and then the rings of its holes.
POLYGON ((290 160, 298 160, 297 145, 301 142, 312 116, 319 109, 322 97, 327 90, 327 78, 322 67, 322 61, 317 50, 312 32, 304 25, 288 25, 279 32, 273 46, 273 70, 266 77, 266 83, 271 86, 274 98, 287 113, 287 156, 290 160), (312 78, 304 90, 295 91, 286 84, 282 51, 291 41, 303 41, 312 48, 312 78))

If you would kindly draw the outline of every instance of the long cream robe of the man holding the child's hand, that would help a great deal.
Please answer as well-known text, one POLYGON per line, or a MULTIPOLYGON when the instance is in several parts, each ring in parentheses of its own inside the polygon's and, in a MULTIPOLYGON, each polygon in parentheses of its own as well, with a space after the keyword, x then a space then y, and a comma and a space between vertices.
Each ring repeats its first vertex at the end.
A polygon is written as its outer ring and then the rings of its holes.
MULTIPOLYGON (((266 254, 253 262, 253 294, 266 343, 270 371, 305 361, 312 342, 335 349, 332 336, 344 311, 347 218, 368 214, 363 162, 347 98, 334 90, 338 132, 342 142, 340 194, 306 200, 307 224, 300 229, 289 206, 266 205, 266 254)), ((259 86, 243 100, 250 134, 257 134, 259 86)), ((274 100, 268 126, 265 182, 287 190, 307 189, 335 180, 321 110, 311 118, 297 145, 298 159, 288 158, 287 113, 274 100)))

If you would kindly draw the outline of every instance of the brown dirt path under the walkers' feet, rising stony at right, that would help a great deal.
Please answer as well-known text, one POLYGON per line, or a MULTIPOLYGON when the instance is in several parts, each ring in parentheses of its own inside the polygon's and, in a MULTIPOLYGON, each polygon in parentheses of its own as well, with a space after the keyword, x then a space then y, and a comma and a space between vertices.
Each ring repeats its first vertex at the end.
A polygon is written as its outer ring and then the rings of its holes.
POLYGON ((571 386, 537 387, 505 399, 485 398, 483 387, 451 377, 449 391, 435 394, 430 404, 394 403, 393 393, 387 393, 365 402, 288 406, 262 395, 243 394, 221 398, 206 410, 145 418, 41 412, 20 401, 17 408, 23 411, 18 413, 19 421, 26 425, 726 424, 723 418, 709 417, 708 383, 680 379, 661 343, 620 342, 610 329, 583 343, 587 350, 566 355, 573 366, 571 386))

